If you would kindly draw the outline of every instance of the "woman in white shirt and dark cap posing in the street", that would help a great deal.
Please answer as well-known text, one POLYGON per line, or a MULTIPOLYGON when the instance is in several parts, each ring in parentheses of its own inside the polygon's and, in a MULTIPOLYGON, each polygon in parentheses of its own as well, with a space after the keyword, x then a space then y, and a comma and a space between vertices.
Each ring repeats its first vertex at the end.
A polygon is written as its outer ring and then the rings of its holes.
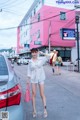
POLYGON ((46 59, 41 60, 38 58, 38 53, 43 54, 42 52, 38 52, 37 48, 31 49, 32 59, 29 62, 28 70, 27 70, 27 77, 31 82, 32 86, 32 106, 33 106, 33 117, 37 116, 36 113, 36 91, 37 91, 37 84, 39 85, 40 96, 43 102, 44 107, 44 117, 47 117, 47 107, 46 107, 46 97, 44 95, 44 80, 45 80, 45 73, 43 69, 43 65, 46 62, 46 59))

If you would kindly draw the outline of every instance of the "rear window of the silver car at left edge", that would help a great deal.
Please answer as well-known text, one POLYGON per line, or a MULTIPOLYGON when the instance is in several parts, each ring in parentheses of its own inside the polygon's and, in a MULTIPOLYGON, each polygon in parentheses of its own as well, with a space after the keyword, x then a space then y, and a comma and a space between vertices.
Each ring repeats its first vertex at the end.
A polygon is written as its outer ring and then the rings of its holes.
POLYGON ((6 61, 2 55, 0 55, 0 75, 8 75, 6 61))

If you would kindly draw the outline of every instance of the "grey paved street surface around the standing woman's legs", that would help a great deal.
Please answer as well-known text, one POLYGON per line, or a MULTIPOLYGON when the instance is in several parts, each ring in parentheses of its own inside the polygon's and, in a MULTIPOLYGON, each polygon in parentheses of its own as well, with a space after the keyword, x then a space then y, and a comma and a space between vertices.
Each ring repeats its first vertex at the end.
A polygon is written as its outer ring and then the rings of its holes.
MULTIPOLYGON (((80 73, 61 68, 61 75, 53 75, 49 65, 44 66, 46 73, 45 94, 47 97, 48 117, 46 120, 80 120, 80 73)), ((14 65, 14 70, 20 77, 22 98, 26 90, 27 65, 14 65)), ((31 102, 24 105, 24 120, 33 120, 31 102)), ((44 120, 43 106, 37 90, 36 120, 44 120)))

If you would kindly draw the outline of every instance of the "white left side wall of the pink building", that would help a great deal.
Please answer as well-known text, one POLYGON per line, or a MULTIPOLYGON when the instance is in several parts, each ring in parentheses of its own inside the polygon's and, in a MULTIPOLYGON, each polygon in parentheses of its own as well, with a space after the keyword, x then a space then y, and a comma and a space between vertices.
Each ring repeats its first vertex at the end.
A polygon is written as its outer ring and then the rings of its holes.
POLYGON ((19 27, 17 28, 17 51, 18 52, 23 52, 26 49, 24 48, 25 44, 29 45, 31 42, 31 37, 30 36, 30 30, 31 30, 31 18, 34 19, 36 18, 36 13, 39 11, 39 9, 42 7, 42 1, 37 1, 35 0, 34 3, 32 4, 31 8, 21 21, 19 27))

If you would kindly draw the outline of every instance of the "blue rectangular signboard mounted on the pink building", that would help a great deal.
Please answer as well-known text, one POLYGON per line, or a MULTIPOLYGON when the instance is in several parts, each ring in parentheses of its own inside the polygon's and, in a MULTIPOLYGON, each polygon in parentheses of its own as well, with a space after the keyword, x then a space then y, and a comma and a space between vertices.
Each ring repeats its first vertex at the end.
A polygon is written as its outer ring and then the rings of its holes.
POLYGON ((75 29, 62 28, 63 40, 75 40, 75 29))

